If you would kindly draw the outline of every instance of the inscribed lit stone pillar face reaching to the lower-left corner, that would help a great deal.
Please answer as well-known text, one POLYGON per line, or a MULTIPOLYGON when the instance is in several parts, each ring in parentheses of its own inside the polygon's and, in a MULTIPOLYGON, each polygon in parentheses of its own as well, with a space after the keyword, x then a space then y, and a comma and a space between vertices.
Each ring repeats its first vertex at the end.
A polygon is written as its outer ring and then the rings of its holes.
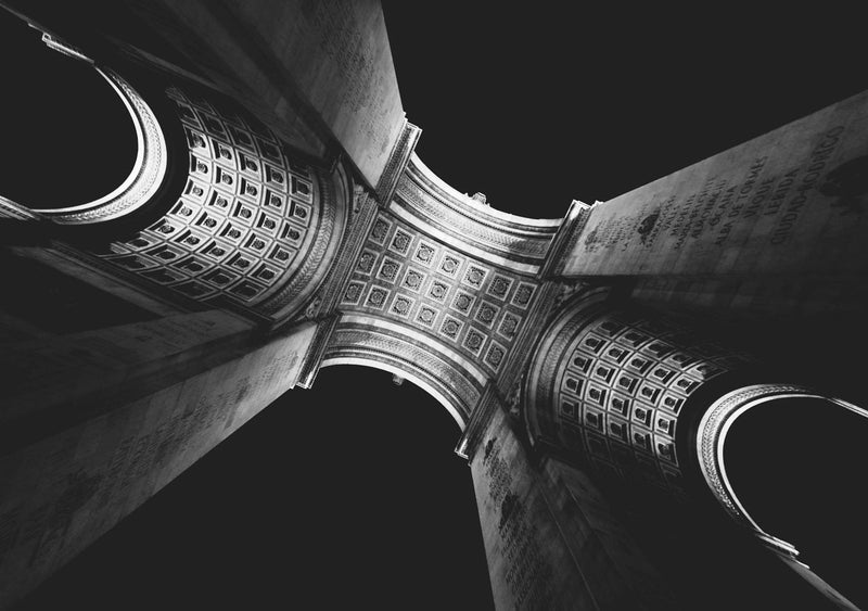
POLYGON ((0 608, 290 390, 316 329, 0 457, 0 608))

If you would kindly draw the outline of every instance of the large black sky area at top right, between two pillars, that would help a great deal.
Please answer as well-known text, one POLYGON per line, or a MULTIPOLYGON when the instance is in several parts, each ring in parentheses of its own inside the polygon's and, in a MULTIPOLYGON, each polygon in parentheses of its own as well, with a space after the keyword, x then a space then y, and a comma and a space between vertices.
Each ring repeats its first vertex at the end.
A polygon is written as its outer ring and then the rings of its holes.
POLYGON ((562 217, 868 89, 838 9, 383 2, 417 153, 498 209, 562 217))

